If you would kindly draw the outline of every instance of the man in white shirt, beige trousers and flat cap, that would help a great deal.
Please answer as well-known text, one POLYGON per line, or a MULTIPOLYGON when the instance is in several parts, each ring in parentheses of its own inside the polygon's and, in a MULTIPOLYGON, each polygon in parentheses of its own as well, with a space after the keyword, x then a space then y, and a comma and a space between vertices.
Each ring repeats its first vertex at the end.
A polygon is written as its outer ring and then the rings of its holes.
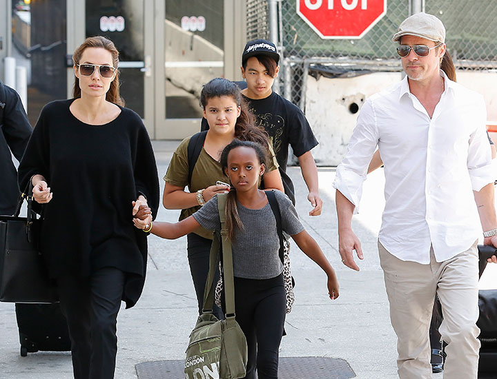
MULTIPOLYGON (((334 187, 342 262, 363 258, 351 218, 376 147, 384 163, 380 263, 398 336, 401 379, 431 378, 428 330, 436 294, 447 342, 444 378, 476 379, 478 252, 497 246, 494 179, 483 96, 447 78, 442 22, 424 12, 402 22, 393 41, 404 80, 362 107, 334 187)), ((496 257, 492 258, 497 262, 496 257)))

